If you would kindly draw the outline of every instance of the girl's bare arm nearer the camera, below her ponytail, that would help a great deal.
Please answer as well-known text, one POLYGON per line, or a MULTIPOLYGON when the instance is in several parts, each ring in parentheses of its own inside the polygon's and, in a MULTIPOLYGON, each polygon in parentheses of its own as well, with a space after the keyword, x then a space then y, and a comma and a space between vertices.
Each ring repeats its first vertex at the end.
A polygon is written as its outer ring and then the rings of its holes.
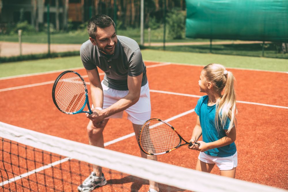
POLYGON ((233 127, 230 132, 228 133, 227 130, 225 130, 226 136, 222 137, 221 139, 209 143, 205 143, 203 141, 199 141, 200 147, 198 148, 198 151, 204 152, 209 149, 214 149, 217 147, 223 147, 226 145, 229 145, 230 143, 233 143, 236 140, 236 128, 233 127))

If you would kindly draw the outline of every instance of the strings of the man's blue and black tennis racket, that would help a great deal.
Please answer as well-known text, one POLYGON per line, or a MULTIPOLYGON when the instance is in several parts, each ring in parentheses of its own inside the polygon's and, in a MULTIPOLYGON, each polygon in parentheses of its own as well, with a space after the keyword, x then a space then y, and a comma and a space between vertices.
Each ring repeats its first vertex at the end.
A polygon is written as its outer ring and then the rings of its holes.
POLYGON ((75 73, 63 75, 55 90, 55 100, 58 107, 64 112, 79 111, 85 104, 85 85, 75 73))

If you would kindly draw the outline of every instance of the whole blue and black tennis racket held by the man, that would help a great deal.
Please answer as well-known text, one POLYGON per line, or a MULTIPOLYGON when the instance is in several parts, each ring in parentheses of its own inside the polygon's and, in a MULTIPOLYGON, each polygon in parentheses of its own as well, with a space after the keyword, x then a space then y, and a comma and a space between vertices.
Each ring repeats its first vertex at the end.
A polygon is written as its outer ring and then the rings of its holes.
POLYGON ((64 71, 57 77, 52 88, 52 98, 56 107, 63 113, 92 114, 86 83, 75 71, 64 71), (86 104, 89 111, 83 111, 86 104))

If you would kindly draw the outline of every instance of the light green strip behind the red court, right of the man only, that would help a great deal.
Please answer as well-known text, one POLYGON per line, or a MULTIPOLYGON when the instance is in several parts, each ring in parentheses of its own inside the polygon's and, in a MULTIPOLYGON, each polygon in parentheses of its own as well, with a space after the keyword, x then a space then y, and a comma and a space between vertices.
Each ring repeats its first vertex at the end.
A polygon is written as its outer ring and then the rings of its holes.
POLYGON ((219 63, 226 67, 260 69, 270 71, 288 71, 288 60, 265 57, 234 56, 193 52, 176 52, 161 50, 142 50, 145 60, 207 65, 219 63))

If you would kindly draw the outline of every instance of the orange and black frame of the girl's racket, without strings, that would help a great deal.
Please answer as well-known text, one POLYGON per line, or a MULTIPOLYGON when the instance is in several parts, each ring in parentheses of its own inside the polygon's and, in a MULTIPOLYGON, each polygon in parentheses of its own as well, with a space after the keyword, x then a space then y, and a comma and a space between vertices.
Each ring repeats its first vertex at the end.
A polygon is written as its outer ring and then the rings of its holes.
MULTIPOLYGON (((152 129, 153 129, 153 128, 152 128, 152 129)), ((179 134, 179 133, 177 132, 177 130, 176 130, 172 125, 170 125, 169 123, 167 123, 166 121, 163 121, 163 120, 161 120, 161 119, 153 118, 153 119, 148 119, 147 121, 145 121, 145 123, 143 123, 143 125, 142 125, 142 127, 141 127, 141 129, 140 129, 140 132, 139 132, 139 136, 138 136, 138 145, 139 145, 141 151, 143 151, 144 153, 146 153, 146 154, 148 154, 148 155, 162 155, 162 154, 165 154, 165 153, 169 153, 170 151, 173 151, 173 150, 175 150, 175 149, 178 149, 179 147, 182 147, 183 145, 192 146, 192 142, 189 142, 189 141, 187 141, 186 139, 184 139, 184 138, 181 136, 181 134, 179 134), (165 123, 166 125, 168 125, 168 126, 169 126, 173 131, 175 131, 176 134, 179 136, 179 138, 180 138, 179 144, 178 144, 176 147, 174 147, 173 149, 164 151, 164 152, 162 152, 162 153, 149 153, 149 152, 145 151, 145 150, 142 148, 142 146, 141 146, 141 133, 142 133, 143 128, 144 128, 144 127, 146 126, 146 124, 147 124, 148 122, 150 122, 150 121, 159 121, 159 122, 162 122, 162 123, 165 123), (181 144, 181 143, 182 143, 182 140, 183 140, 185 143, 181 144)))

